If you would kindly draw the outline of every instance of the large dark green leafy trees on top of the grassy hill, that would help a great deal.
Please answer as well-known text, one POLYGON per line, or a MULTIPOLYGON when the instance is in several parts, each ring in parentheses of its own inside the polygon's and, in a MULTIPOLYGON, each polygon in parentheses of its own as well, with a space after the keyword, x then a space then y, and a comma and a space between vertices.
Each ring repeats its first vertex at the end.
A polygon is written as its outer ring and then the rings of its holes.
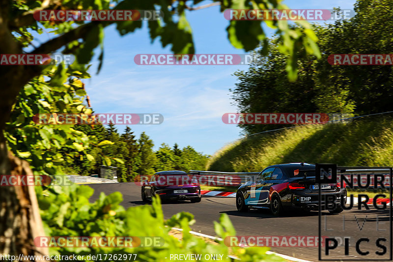
MULTIPOLYGON (((387 19, 393 9, 388 0, 358 0, 356 15, 334 24, 313 25, 322 59, 300 58, 298 79, 291 83, 284 76, 288 66, 282 55, 282 37, 269 40, 264 54, 247 71, 238 71, 233 88, 234 103, 244 113, 341 113, 365 115, 393 111, 393 70, 385 65, 331 65, 332 54, 391 54, 393 38, 387 35, 393 22, 387 19), (378 11, 377 11, 378 10, 378 11), (370 39, 373 39, 370 41, 370 39), (275 48, 277 46, 277 48, 275 48)), ((337 10, 339 12, 339 10, 337 10)), ((302 30, 302 28, 298 28, 302 30)), ((303 49, 301 49, 303 50, 303 49)), ((301 51, 302 52, 302 51, 301 51)), ((245 134, 273 130, 282 125, 240 125, 245 134)))

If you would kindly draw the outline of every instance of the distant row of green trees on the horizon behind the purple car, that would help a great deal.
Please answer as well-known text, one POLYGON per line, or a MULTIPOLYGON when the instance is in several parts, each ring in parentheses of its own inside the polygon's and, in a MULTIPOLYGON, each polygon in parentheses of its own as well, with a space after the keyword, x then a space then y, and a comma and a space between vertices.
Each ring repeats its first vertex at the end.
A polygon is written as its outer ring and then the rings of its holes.
MULTIPOLYGON (((108 128, 103 125, 75 125, 75 130, 82 131, 91 138, 90 146, 84 150, 86 157, 65 163, 67 174, 100 174, 101 165, 117 167, 120 182, 132 181, 134 176, 152 175, 164 170, 202 170, 206 166, 207 155, 197 152, 192 146, 183 149, 177 144, 173 149, 167 144, 154 152, 153 141, 144 132, 136 140, 130 127, 119 135, 113 124, 108 128)), ((62 149, 65 151, 65 149, 62 149)))

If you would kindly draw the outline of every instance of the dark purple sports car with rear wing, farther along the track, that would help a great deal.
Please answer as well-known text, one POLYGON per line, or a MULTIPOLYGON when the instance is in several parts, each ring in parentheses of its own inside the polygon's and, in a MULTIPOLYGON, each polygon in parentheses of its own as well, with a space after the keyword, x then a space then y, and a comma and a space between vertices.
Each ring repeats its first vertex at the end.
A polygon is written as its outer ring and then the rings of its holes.
POLYGON ((151 200, 155 195, 162 200, 191 200, 192 203, 200 202, 200 185, 192 179, 194 173, 184 171, 161 171, 154 174, 150 181, 142 184, 142 201, 151 200))

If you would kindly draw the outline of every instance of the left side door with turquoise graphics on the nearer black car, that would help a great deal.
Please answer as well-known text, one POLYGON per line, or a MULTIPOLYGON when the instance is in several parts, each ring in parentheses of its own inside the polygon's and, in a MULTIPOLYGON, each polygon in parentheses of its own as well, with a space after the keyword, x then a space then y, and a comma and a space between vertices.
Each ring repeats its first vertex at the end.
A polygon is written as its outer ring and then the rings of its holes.
POLYGON ((249 186, 249 196, 246 199, 246 204, 249 205, 263 205, 268 202, 269 197, 269 184, 275 168, 267 168, 257 175, 255 182, 249 186))

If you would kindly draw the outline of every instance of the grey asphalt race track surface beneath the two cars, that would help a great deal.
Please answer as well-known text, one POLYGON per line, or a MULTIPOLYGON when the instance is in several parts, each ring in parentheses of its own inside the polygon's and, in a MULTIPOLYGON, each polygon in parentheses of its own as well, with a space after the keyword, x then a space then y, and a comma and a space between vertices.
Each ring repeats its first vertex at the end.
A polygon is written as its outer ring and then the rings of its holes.
MULTIPOLYGON (((95 189, 90 201, 98 199, 101 192, 108 195, 119 191, 123 194, 122 205, 125 208, 145 204, 140 198, 140 186, 134 183, 89 184, 89 186, 95 189)), ((239 213, 236 209, 235 198, 202 197, 200 203, 192 204, 189 201, 184 201, 163 204, 163 210, 167 219, 180 211, 194 214, 196 223, 192 226, 192 230, 213 236, 216 235, 213 221, 218 221, 221 213, 229 215, 238 236, 288 236, 288 238, 289 236, 318 236, 318 212, 287 212, 280 217, 274 217, 269 209, 239 213)), ((389 208, 386 210, 376 210, 373 207, 370 210, 364 210, 364 208, 362 210, 344 210, 340 214, 330 214, 327 211, 323 211, 323 215, 326 216, 321 218, 322 236, 342 236, 342 239, 343 236, 351 237, 349 256, 344 256, 344 246, 341 245, 334 251, 331 251, 329 257, 326 257, 324 255, 325 248, 323 247, 323 259, 337 261, 341 259, 356 261, 389 259, 391 252, 389 208), (343 222, 345 222, 344 225, 343 222), (357 254, 355 249, 356 241, 362 237, 369 238, 368 243, 363 241, 360 244, 362 252, 369 251, 366 257, 357 254), (380 242, 387 248, 387 253, 383 256, 375 254, 377 251, 383 251, 382 248, 376 245, 378 237, 387 239, 386 242, 380 242)), ((309 261, 318 260, 318 247, 278 246, 272 247, 271 251, 309 261)))

